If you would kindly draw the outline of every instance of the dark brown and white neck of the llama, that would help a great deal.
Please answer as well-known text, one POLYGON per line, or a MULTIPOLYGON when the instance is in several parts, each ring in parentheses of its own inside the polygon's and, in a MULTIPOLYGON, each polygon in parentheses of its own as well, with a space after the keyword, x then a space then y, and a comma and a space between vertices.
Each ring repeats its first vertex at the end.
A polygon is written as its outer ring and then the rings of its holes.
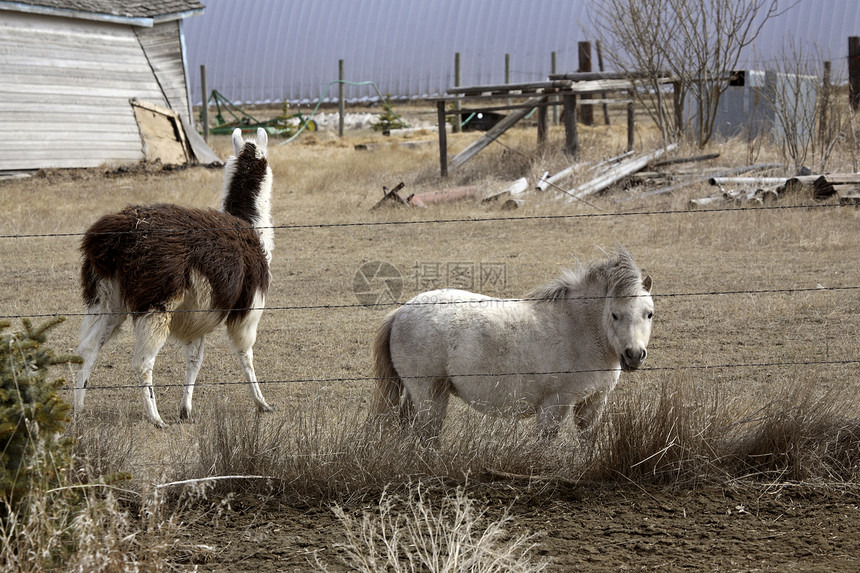
POLYGON ((227 161, 221 211, 247 221, 255 228, 269 261, 275 246, 271 197, 272 170, 265 158, 243 161, 242 157, 231 157, 227 161))

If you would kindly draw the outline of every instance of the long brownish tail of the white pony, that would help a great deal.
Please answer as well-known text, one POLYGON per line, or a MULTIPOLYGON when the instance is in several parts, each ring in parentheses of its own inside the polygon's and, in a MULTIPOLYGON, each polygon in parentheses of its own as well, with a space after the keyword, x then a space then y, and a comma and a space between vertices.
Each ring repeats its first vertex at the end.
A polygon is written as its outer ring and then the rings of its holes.
POLYGON ((372 416, 382 422, 391 423, 399 418, 401 423, 412 418, 412 402, 403 392, 403 380, 391 360, 391 327, 396 312, 389 314, 373 343, 373 375, 376 392, 373 397, 372 416))

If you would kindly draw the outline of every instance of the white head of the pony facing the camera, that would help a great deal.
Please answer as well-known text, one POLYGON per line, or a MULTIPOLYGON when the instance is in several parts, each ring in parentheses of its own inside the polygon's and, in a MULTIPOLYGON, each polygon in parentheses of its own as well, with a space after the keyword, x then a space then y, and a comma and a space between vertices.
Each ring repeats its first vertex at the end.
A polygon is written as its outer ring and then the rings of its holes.
POLYGON ((636 370, 645 362, 654 316, 651 277, 640 278, 635 266, 630 270, 636 273, 635 281, 627 283, 624 292, 610 291, 603 311, 607 337, 626 371, 636 370))

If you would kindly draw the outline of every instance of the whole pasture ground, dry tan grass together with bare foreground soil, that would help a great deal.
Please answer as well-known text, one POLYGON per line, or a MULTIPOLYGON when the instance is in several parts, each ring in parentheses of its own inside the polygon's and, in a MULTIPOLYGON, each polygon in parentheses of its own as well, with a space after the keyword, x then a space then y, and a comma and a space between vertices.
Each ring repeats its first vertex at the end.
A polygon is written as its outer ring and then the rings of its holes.
MULTIPOLYGON (((581 160, 622 152, 625 134, 620 124, 581 127, 581 160)), ((476 137, 451 135, 450 151, 476 137)), ((435 141, 427 131, 270 140, 278 228, 254 352, 275 413, 254 412, 218 332, 192 423, 178 419, 181 349, 168 344, 160 354, 154 379, 170 426, 158 430, 144 418, 131 373, 129 326, 105 347, 86 411, 69 428, 90 475, 132 476, 115 495, 136 535, 122 541, 117 530, 105 542, 114 569, 102 570, 359 568, 350 523, 378 517, 385 500, 389 515, 402 517, 417 511, 415 498, 438 508, 455 492, 469 496, 482 527, 507 516, 498 543, 527 536, 527 557, 552 571, 857 568, 860 210, 806 194, 690 210, 689 199, 714 192, 701 183, 660 195, 616 186, 588 204, 532 191, 513 211, 474 201, 371 211, 382 188, 401 181, 405 194, 463 185, 490 192, 522 176, 533 185, 568 165, 560 128, 539 153, 534 128, 525 127, 443 180, 435 141), (380 145, 361 151, 357 143, 380 145), (615 244, 654 279, 654 329, 645 367, 622 375, 593 447, 567 427, 547 446, 528 420, 482 419, 462 407, 446 420, 438 450, 364 426, 371 341, 391 307, 358 304, 362 264, 394 265, 400 301, 426 290, 434 273, 464 286, 449 269, 473 269, 472 290, 519 297, 615 244), (504 276, 482 285, 482 268, 504 276), (266 479, 219 480, 193 495, 183 485, 156 487, 211 476, 266 479), (141 500, 154 495, 153 513, 141 500)), ((210 143, 229 154, 226 136, 210 143)), ((645 130, 636 145, 658 143, 645 130)), ((853 171, 850 142, 843 147, 830 170, 853 171)), ((720 157, 667 169, 706 174, 781 160, 775 148, 735 140, 704 151, 720 157)), ((47 171, 0 182, 0 315, 68 316, 50 345, 74 352, 84 311, 79 234, 127 204, 214 206, 221 181, 221 170, 198 167, 47 171)), ((74 368, 58 376, 71 381, 74 368)), ((434 514, 424 509, 425 518, 434 514)), ((77 559, 60 570, 82 567, 77 559)))

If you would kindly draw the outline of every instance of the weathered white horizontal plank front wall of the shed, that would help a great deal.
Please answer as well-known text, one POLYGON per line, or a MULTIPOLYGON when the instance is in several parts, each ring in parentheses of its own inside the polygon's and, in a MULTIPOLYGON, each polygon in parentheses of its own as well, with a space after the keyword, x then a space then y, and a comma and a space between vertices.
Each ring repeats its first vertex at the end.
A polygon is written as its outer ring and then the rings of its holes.
POLYGON ((0 54, 0 170, 143 158, 129 100, 168 102, 131 26, 4 11, 0 54))

